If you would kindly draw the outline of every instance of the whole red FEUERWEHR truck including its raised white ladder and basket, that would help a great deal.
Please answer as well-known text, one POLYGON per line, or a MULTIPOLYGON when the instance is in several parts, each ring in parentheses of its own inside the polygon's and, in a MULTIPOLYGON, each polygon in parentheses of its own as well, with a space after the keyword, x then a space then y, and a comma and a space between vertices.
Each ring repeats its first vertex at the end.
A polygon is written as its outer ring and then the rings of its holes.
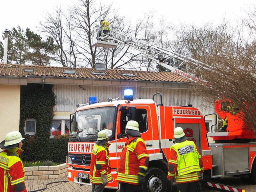
MULTIPOLYGON (((176 72, 188 79, 197 79, 183 72, 186 62, 200 65, 200 62, 148 44, 142 40, 132 38, 122 32, 110 30, 103 37, 106 41, 99 41, 99 30, 96 29, 93 37, 94 46, 113 48, 118 43, 124 43, 146 54, 159 65, 176 72), (112 42, 111 42, 112 41, 112 42)), ((200 82, 200 81, 199 81, 200 82)), ((131 96, 132 94, 130 94, 131 96)), ((196 143, 204 162, 204 174, 200 179, 211 180, 224 176, 240 176, 256 183, 256 142, 255 133, 244 126, 240 116, 230 115, 222 110, 222 101, 215 103, 216 113, 228 118, 226 132, 207 133, 204 118, 201 112, 193 106, 163 106, 162 95, 154 94, 152 99, 109 99, 106 102, 96 103, 92 98, 88 104, 80 106, 75 114, 70 116, 71 132, 68 143, 68 181, 90 185, 91 151, 97 140, 97 133, 104 128, 112 130, 110 138, 110 166, 114 181, 106 188, 118 189, 115 178, 118 172, 120 153, 126 142, 124 130, 128 120, 136 120, 142 138, 146 143, 149 154, 149 169, 146 174, 144 192, 165 192, 167 188, 166 176, 168 173, 168 155, 170 146, 174 144, 173 130, 180 126, 189 140, 196 143), (154 96, 160 96, 160 104, 154 102, 154 96), (211 136, 215 143, 208 142, 211 136)), ((226 102, 226 101, 225 101, 226 102)), ((217 122, 217 115, 216 115, 217 122)), ((213 186, 210 182, 208 186, 213 186)), ((216 185, 214 185, 216 186, 216 185)), ((219 186, 219 185, 217 185, 219 186)), ((232 188, 225 187, 223 189, 232 188)), ((244 192, 236 189, 231 191, 244 192)))

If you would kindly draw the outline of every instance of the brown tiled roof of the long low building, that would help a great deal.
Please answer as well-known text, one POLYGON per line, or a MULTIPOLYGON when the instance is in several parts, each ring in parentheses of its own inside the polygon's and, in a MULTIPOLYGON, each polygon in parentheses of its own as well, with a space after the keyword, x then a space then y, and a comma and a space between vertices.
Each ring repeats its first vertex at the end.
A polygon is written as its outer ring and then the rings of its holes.
POLYGON ((135 70, 106 69, 95 70, 94 68, 66 68, 53 66, 32 66, 17 64, 0 64, 0 77, 26 77, 45 76, 55 78, 84 78, 84 79, 108 79, 108 80, 136 80, 153 82, 190 82, 183 76, 172 72, 148 72, 135 70), (25 72, 24 69, 34 69, 34 72, 25 72), (75 74, 64 74, 64 69, 76 69, 75 74), (106 75, 94 75, 92 72, 104 72, 106 75), (135 76, 124 76, 133 74, 135 76))

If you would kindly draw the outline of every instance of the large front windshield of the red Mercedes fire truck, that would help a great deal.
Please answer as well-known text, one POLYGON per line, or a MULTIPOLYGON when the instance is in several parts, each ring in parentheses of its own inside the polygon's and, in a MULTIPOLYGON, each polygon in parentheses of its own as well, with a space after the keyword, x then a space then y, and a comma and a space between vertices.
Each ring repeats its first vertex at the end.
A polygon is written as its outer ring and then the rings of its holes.
POLYGON ((73 118, 70 141, 97 140, 100 130, 112 130, 116 107, 92 108, 76 112, 73 118))

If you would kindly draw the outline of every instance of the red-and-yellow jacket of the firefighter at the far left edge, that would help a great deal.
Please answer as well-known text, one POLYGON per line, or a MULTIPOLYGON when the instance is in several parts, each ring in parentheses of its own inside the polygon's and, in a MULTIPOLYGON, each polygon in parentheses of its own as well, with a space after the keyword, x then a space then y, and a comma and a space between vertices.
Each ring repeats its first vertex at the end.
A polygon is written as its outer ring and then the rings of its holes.
MULTIPOLYGON (((0 191, 15 192, 14 185, 24 182, 25 169, 19 155, 22 149, 6 149, 0 152, 0 191)), ((27 192, 26 186, 22 192, 27 192)))

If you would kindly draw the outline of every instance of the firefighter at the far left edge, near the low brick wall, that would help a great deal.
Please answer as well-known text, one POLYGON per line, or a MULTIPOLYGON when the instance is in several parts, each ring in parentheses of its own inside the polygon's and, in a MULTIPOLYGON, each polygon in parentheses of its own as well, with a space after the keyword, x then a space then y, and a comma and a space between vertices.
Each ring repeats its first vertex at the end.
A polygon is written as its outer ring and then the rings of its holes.
POLYGON ((25 169, 19 155, 23 152, 22 135, 18 131, 6 134, 0 143, 0 191, 27 192, 24 182, 25 169))

